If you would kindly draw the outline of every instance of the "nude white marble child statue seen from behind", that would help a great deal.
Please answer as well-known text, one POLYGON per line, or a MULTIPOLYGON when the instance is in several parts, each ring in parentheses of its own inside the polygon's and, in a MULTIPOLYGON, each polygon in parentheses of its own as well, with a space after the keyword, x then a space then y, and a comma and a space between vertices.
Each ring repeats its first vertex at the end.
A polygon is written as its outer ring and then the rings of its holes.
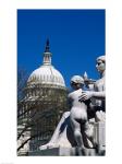
POLYGON ((85 149, 85 147, 93 147, 87 143, 89 141, 87 140, 87 137, 90 137, 87 116, 88 101, 78 101, 83 92, 84 79, 80 75, 74 75, 71 79, 71 86, 74 91, 69 94, 69 101, 71 104, 70 121, 75 141, 77 147, 82 149, 85 149))

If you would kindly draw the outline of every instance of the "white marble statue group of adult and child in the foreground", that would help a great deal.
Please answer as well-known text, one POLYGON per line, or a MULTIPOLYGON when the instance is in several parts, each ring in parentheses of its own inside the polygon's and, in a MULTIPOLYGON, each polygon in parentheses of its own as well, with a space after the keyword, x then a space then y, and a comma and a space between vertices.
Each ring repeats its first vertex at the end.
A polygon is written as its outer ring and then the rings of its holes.
POLYGON ((105 56, 96 59, 96 68, 100 74, 97 81, 87 79, 87 75, 71 78, 73 92, 68 95, 70 112, 63 114, 51 140, 41 145, 40 150, 78 147, 84 152, 86 149, 102 150, 105 148, 105 56), (84 90, 84 86, 87 90, 84 90))

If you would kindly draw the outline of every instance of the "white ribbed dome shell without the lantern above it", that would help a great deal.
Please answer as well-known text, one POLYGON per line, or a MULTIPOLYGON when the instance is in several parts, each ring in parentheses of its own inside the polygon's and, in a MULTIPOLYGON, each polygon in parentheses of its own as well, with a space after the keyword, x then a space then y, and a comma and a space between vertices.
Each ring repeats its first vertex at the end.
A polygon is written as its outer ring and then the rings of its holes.
POLYGON ((29 84, 52 84, 56 86, 65 87, 64 79, 62 74, 56 70, 51 65, 42 65, 40 68, 33 71, 28 78, 29 84))

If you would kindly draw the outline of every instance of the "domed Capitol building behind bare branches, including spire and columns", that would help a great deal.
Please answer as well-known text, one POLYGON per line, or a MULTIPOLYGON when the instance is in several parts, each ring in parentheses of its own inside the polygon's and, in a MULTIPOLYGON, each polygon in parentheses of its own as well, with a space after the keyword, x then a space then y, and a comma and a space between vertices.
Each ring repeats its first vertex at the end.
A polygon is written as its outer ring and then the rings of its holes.
POLYGON ((51 65, 47 39, 42 65, 34 70, 17 110, 17 155, 39 150, 47 143, 68 108, 68 89, 62 74, 51 65))

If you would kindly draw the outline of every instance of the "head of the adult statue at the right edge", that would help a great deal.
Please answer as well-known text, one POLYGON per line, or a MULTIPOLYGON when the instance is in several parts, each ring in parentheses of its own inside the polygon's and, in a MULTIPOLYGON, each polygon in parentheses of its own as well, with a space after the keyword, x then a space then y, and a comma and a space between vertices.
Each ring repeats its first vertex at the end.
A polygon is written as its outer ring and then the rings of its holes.
POLYGON ((102 73, 106 70, 106 56, 100 56, 97 58, 97 65, 96 68, 97 70, 102 73))

